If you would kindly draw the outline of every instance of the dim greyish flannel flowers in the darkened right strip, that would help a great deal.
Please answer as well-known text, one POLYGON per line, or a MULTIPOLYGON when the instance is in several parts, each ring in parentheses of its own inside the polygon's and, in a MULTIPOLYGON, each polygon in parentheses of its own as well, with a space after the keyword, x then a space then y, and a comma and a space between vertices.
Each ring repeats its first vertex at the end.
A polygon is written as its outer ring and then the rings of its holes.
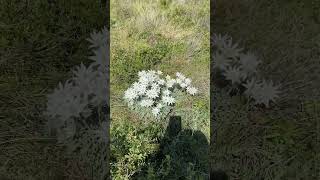
POLYGON ((279 98, 280 85, 257 78, 257 67, 261 61, 252 52, 243 52, 243 48, 233 43, 228 35, 214 34, 212 42, 215 47, 213 68, 220 70, 233 87, 244 87, 244 94, 249 99, 266 107, 279 98))

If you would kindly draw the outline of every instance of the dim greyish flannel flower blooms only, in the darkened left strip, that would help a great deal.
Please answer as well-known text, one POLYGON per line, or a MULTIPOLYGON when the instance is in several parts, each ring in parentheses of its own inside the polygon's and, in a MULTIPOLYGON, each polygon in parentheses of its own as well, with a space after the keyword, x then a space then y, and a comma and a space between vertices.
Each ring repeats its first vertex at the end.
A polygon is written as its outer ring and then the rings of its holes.
MULTIPOLYGON (((109 48, 107 29, 91 33, 87 40, 91 43, 93 62, 86 67, 80 64, 72 70, 73 77, 59 83, 53 93, 48 95, 45 115, 49 129, 55 129, 62 139, 73 137, 79 119, 91 115, 92 108, 107 103, 109 48)), ((104 132, 102 132, 104 134, 104 132)))

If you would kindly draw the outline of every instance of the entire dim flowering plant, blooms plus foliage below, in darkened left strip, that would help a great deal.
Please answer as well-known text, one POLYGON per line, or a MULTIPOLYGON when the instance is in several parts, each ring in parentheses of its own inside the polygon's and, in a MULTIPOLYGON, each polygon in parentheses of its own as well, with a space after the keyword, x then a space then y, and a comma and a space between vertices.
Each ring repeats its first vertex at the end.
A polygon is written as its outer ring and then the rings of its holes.
POLYGON ((91 33, 87 40, 93 54, 89 66, 80 64, 72 69, 72 78, 48 95, 47 109, 49 133, 56 132, 58 142, 70 152, 77 152, 88 165, 87 174, 93 179, 107 176, 108 124, 107 87, 108 36, 107 29, 91 33), (91 168, 92 167, 92 168, 91 168))

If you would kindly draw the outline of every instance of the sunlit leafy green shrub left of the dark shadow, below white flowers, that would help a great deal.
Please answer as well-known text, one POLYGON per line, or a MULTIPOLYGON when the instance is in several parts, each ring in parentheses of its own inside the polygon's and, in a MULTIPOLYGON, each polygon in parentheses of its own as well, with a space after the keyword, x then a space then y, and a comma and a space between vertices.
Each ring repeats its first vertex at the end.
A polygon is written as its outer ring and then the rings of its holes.
POLYGON ((129 120, 111 126, 111 176, 130 179, 145 165, 147 156, 157 149, 160 126, 143 126, 129 120))

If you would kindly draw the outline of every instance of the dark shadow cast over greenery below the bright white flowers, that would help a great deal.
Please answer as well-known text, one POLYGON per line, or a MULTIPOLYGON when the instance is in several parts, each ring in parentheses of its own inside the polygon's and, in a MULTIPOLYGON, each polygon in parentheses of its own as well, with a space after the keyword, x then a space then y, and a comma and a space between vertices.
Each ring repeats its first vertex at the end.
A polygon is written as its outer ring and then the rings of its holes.
POLYGON ((170 117, 156 153, 132 179, 209 179, 209 143, 201 131, 182 130, 181 117, 170 117))

